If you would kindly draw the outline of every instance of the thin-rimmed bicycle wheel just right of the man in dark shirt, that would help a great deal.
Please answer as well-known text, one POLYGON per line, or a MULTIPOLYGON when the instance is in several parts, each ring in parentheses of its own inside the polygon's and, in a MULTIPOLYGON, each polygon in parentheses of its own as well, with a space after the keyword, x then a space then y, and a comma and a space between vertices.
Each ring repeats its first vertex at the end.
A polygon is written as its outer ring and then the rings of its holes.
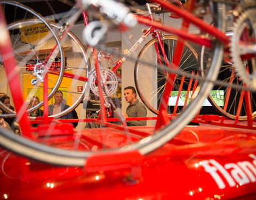
MULTIPOLYGON (((172 62, 173 52, 178 39, 179 39, 178 37, 171 36, 171 35, 164 35, 162 38, 163 43, 165 44, 165 52, 167 54, 167 58, 169 59, 170 63, 172 62)), ((150 59, 148 58, 148 56, 150 56, 155 58, 155 61, 153 60, 153 62, 157 62, 157 56, 154 55, 155 53, 154 45, 156 43, 158 43, 158 39, 153 38, 145 46, 143 46, 142 50, 138 55, 138 60, 146 61, 150 59)), ((184 44, 184 49, 181 55, 179 69, 186 71, 186 73, 191 73, 192 71, 195 71, 195 72, 198 71, 197 70, 198 55, 196 53, 196 50, 188 42, 184 42, 183 44, 184 44)), ((161 64, 158 64, 158 65, 161 65, 161 64)), ((149 76, 150 69, 151 69, 150 66, 147 66, 141 62, 136 62, 134 67, 134 82, 135 82, 135 86, 137 88, 137 92, 140 96, 141 101, 147 106, 149 110, 151 110, 155 114, 158 114, 159 99, 162 98, 162 91, 163 91, 162 88, 165 86, 166 73, 163 73, 161 68, 158 68, 156 75, 150 74, 149 76), (147 73, 145 73, 145 71, 147 71, 147 73), (148 85, 149 85, 148 83, 154 83, 156 87, 153 90, 148 91, 148 85)), ((182 85, 181 93, 183 94, 181 95, 186 95, 186 91, 189 86, 189 81, 190 81, 190 77, 184 77, 184 79, 182 79, 182 76, 177 75, 173 83, 173 91, 171 94, 173 95, 174 90, 175 92, 179 91, 180 85, 182 85)), ((175 106, 175 104, 172 106, 175 106)), ((180 110, 178 112, 180 112, 180 110)))

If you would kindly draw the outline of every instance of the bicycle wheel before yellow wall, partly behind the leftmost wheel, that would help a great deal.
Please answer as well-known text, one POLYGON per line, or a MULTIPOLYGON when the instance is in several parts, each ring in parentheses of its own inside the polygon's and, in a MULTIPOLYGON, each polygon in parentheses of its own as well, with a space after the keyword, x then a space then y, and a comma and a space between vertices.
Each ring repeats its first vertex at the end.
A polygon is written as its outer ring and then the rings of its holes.
MULTIPOLYGON (((15 4, 14 4, 15 6, 15 4)), ((6 8, 7 9, 7 8, 6 8)), ((8 6, 10 9, 10 6, 8 6)), ((51 30, 54 31, 57 35, 61 35, 60 29, 62 28, 60 25, 54 22, 49 22, 51 26, 51 30)), ((19 20, 16 22, 11 23, 7 29, 11 32, 19 28, 20 30, 24 30, 27 27, 38 28, 37 26, 41 25, 41 21, 39 19, 26 19, 26 20, 19 20)), ((26 35, 26 33, 25 33, 26 35)), ((20 76, 22 76, 22 84, 24 85, 23 95, 25 97, 25 101, 29 102, 30 98, 36 95, 42 101, 35 107, 30 107, 27 111, 30 113, 33 110, 36 110, 43 105, 43 84, 31 84, 31 80, 35 81, 35 70, 34 67, 38 65, 38 62, 42 62, 44 58, 46 58, 49 53, 43 53, 44 51, 49 51, 54 45, 54 40, 52 39, 53 36, 47 36, 50 39, 44 38, 40 36, 41 41, 43 44, 37 45, 38 50, 31 50, 31 53, 26 51, 28 54, 31 54, 33 60, 26 58, 22 52, 19 52, 18 48, 20 49, 21 43, 25 42, 25 36, 22 36, 23 41, 19 40, 12 40, 13 42, 13 49, 17 53, 15 54, 16 60, 19 61, 19 66, 26 66, 20 70, 20 76), (36 55, 33 55, 36 54, 36 55), (37 60, 35 57, 37 56, 37 60), (26 63, 25 63, 26 62, 26 63), (25 73, 26 68, 26 73, 25 73)), ((27 41, 29 38, 26 38, 27 41)), ((49 87, 49 95, 48 99, 50 100, 49 103, 52 102, 52 95, 54 91, 57 89, 63 92, 64 98, 66 100, 67 105, 70 107, 66 110, 63 110, 61 113, 54 115, 52 117, 58 118, 61 117, 71 110, 73 110, 76 106, 81 103, 84 97, 84 93, 87 87, 87 73, 89 69, 89 64, 87 60, 86 51, 84 46, 81 42, 77 39, 77 37, 71 33, 70 31, 67 32, 65 37, 61 38, 60 44, 62 48, 65 50, 65 57, 63 59, 60 58, 59 55, 54 59, 52 62, 52 66, 48 70, 48 81, 47 85, 49 87), (63 62, 61 61, 63 60, 63 62), (61 68, 61 65, 63 67, 61 68), (61 69, 61 71, 60 71, 61 69), (65 73, 63 71, 65 70, 65 73), (63 74, 63 75, 61 75, 63 74), (62 79, 63 77, 63 79, 62 79)), ((28 44, 27 46, 31 46, 28 44)), ((24 46, 24 45, 23 45, 24 46)), ((22 46, 22 47, 23 47, 22 46)), ((12 114, 15 115, 15 114, 12 114)), ((4 115, 6 116, 6 115, 4 115)), ((10 116, 7 115, 7 116, 10 116)))

